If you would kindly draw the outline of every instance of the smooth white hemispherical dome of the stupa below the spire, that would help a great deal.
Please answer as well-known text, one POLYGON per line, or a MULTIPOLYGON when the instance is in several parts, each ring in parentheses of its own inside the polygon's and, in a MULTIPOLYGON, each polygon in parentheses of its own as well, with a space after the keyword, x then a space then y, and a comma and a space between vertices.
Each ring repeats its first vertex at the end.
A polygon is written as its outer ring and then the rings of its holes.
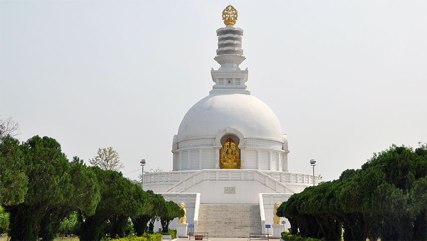
POLYGON ((245 138, 282 142, 282 127, 273 110, 249 94, 211 94, 195 103, 178 129, 178 142, 215 138, 225 128, 234 128, 245 138))

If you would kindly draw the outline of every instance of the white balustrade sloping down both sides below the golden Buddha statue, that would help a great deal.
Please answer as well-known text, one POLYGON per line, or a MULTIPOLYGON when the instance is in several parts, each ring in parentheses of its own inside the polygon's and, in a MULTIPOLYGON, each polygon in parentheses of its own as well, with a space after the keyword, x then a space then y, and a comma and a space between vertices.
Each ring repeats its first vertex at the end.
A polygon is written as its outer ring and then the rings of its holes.
POLYGON ((187 188, 192 187, 202 181, 221 181, 219 178, 219 173, 229 173, 229 179, 230 181, 258 181, 260 183, 262 183, 263 185, 271 188, 274 191, 277 191, 277 187, 281 186, 282 188, 284 188, 283 193, 286 192, 286 189, 289 190, 291 193, 295 193, 295 191, 293 191, 292 189, 290 189, 286 184, 278 181, 277 179, 274 179, 273 177, 259 171, 259 170, 255 170, 255 169, 245 169, 245 170, 234 170, 234 169, 204 169, 204 170, 200 170, 198 172, 195 172, 191 175, 189 175, 188 177, 182 179, 181 181, 175 183, 172 187, 170 187, 168 190, 166 190, 166 192, 180 192, 180 190, 176 190, 177 187, 183 186, 181 189, 182 191, 185 191, 187 188), (216 175, 215 176, 210 176, 207 177, 207 175, 203 175, 203 173, 209 173, 209 172, 215 172, 216 175), (232 178, 231 177, 231 173, 253 173, 254 176, 253 178, 245 178, 245 175, 239 175, 238 178, 232 178), (260 176, 261 178, 257 178, 260 176), (197 180, 195 179, 196 177, 199 177, 197 180), (264 178, 264 182, 260 181, 260 179, 264 178), (274 187, 269 186, 268 184, 268 180, 270 180, 270 183, 274 183, 274 187), (187 185, 186 185, 187 184, 187 185))

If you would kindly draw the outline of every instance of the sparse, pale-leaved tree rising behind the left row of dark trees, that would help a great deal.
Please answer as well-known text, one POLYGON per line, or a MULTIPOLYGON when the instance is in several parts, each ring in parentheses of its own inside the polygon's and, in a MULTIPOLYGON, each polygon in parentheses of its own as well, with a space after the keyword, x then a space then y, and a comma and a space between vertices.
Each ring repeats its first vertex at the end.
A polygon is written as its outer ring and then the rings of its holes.
POLYGON ((113 147, 108 148, 99 148, 98 155, 92 159, 89 159, 92 166, 97 166, 102 170, 113 170, 119 171, 124 168, 123 164, 120 162, 119 153, 113 149, 113 147))

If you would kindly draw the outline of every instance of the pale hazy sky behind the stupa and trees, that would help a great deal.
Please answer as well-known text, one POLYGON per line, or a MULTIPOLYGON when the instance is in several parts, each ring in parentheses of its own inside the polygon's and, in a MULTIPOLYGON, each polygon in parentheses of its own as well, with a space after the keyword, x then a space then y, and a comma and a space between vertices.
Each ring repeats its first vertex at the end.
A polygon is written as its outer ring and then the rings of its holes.
MULTIPOLYGON (((229 1, 1 1, 0 114, 71 159, 114 147, 124 174, 172 169, 172 138, 213 85, 229 1)), ((333 180, 427 142, 427 1, 232 1, 248 89, 276 113, 289 170, 333 180)), ((136 179, 140 173, 125 176, 136 179)))

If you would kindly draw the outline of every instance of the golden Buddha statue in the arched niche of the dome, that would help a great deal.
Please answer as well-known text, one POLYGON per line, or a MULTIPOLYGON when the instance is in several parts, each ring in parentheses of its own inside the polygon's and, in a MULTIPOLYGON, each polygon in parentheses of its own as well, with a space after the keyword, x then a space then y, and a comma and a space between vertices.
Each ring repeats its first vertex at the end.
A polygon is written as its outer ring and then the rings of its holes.
POLYGON ((240 169, 240 149, 233 139, 229 138, 224 142, 220 150, 220 168, 240 169))

